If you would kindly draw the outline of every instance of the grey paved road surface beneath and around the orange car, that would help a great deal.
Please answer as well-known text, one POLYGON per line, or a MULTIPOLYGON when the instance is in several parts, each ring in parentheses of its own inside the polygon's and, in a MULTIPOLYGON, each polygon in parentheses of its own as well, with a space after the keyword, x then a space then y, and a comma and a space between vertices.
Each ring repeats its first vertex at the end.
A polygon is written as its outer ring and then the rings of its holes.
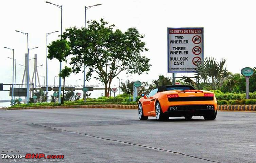
POLYGON ((256 113, 158 122, 138 120, 137 110, 0 110, 0 150, 64 155, 74 163, 254 163, 256 113))

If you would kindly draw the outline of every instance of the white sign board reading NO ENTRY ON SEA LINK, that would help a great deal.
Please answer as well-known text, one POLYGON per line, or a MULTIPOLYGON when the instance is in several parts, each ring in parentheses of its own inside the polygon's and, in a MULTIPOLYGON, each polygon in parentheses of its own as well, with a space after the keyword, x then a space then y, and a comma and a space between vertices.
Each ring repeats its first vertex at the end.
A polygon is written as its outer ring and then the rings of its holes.
POLYGON ((203 62, 203 28, 167 28, 168 72, 195 72, 203 62))

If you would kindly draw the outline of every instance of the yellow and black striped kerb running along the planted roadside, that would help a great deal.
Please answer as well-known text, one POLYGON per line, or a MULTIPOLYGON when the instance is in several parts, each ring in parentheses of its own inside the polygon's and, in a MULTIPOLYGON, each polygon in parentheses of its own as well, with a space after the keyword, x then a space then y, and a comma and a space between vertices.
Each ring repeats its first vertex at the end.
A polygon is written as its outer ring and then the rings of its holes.
MULTIPOLYGON (((23 107, 23 108, 7 108, 7 110, 22 110, 22 109, 54 109, 54 108, 112 108, 112 109, 138 109, 137 105, 69 105, 69 106, 38 106, 38 107, 23 107)), ((256 111, 256 105, 218 105, 217 110, 221 111, 256 111)))

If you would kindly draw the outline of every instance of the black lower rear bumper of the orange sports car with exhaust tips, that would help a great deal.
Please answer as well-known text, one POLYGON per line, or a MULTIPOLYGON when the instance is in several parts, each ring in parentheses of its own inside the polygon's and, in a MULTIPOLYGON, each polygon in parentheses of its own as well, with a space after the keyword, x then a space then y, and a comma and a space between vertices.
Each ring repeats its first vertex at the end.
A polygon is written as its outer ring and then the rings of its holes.
POLYGON ((215 114, 216 110, 214 105, 175 105, 169 106, 168 110, 164 112, 166 116, 204 116, 209 114, 215 114), (213 106, 213 107, 208 107, 213 106), (174 108, 176 107, 176 108, 174 108))

